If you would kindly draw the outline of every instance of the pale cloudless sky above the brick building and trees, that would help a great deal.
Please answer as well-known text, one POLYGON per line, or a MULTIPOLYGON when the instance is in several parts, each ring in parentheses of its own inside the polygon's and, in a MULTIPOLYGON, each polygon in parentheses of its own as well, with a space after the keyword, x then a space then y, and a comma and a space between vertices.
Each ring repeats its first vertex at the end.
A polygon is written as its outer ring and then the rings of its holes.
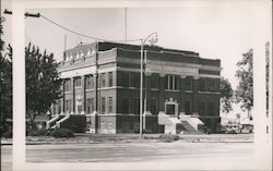
MULTIPOLYGON (((109 40, 145 38, 157 32, 157 46, 191 50, 202 58, 221 59, 222 76, 235 89, 236 63, 256 40, 271 40, 271 8, 269 1, 206 1, 185 7, 166 8, 93 8, 93 9, 26 9, 39 12, 54 22, 74 32, 109 40), (127 20, 126 20, 127 19, 127 20), (127 27, 127 29, 126 29, 127 27), (127 34, 126 34, 127 30, 127 34)), ((9 41, 10 16, 5 16, 4 37, 9 41)), ((25 42, 52 52, 57 61, 64 50, 80 41, 93 42, 71 34, 43 17, 25 19, 25 42)), ((140 41, 131 44, 139 45, 140 41)), ((236 107, 238 108, 238 107, 236 107)), ((237 109, 236 109, 237 111, 237 109)))

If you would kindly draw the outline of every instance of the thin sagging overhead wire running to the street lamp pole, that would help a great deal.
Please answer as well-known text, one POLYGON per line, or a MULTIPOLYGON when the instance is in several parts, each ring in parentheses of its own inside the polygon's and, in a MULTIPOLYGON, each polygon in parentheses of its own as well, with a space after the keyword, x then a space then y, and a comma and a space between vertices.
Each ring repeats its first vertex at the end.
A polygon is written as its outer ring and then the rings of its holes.
POLYGON ((86 37, 86 38, 94 39, 94 40, 112 41, 112 42, 115 42, 115 41, 116 41, 116 42, 117 42, 117 41, 124 41, 124 42, 126 42, 126 41, 140 41, 140 40, 141 40, 141 39, 131 39, 131 40, 107 40, 107 39, 104 39, 104 38, 92 37, 92 36, 84 35, 84 34, 78 33, 78 32, 75 32, 75 30, 72 30, 72 29, 70 29, 70 28, 67 28, 67 27, 64 27, 64 26, 62 26, 62 25, 60 25, 60 24, 54 22, 52 20, 46 17, 45 15, 41 15, 41 14, 40 14, 40 16, 41 16, 43 19, 45 19, 46 21, 50 22, 51 24, 54 24, 54 25, 56 25, 56 26, 58 26, 58 27, 60 27, 60 28, 62 28, 62 29, 66 29, 66 30, 72 33, 72 34, 74 34, 74 35, 82 36, 82 37, 86 37))

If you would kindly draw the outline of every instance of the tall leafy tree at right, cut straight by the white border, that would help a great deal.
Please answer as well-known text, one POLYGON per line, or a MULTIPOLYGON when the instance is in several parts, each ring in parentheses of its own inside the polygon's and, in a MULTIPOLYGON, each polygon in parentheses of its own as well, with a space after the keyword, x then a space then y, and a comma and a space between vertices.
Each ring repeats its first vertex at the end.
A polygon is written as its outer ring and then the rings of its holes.
POLYGON ((248 111, 248 118, 251 120, 251 110, 253 107, 253 50, 250 49, 242 53, 242 59, 237 63, 238 70, 236 77, 239 85, 235 91, 236 102, 241 103, 240 108, 248 111))

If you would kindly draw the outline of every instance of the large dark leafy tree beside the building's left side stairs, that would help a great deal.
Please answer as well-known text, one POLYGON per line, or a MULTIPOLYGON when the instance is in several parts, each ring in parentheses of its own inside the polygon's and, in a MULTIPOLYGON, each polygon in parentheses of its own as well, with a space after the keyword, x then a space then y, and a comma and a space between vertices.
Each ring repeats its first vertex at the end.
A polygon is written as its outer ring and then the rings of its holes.
POLYGON ((60 98, 61 80, 58 76, 58 63, 54 54, 39 51, 31 44, 25 48, 26 68, 26 114, 32 129, 35 129, 35 118, 46 114, 51 103, 60 98))

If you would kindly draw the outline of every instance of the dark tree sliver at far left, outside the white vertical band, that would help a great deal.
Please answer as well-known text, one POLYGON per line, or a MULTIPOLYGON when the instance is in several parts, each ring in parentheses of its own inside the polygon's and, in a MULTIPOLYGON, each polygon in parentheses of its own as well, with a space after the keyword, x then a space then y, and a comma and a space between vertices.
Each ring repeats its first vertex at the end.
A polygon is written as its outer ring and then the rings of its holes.
MULTIPOLYGON (((2 40, 3 27, 1 17, 0 21, 0 110, 1 110, 1 133, 8 131, 5 120, 12 118, 12 48, 9 45, 4 48, 2 40)), ((1 134, 2 135, 2 134, 1 134)))

